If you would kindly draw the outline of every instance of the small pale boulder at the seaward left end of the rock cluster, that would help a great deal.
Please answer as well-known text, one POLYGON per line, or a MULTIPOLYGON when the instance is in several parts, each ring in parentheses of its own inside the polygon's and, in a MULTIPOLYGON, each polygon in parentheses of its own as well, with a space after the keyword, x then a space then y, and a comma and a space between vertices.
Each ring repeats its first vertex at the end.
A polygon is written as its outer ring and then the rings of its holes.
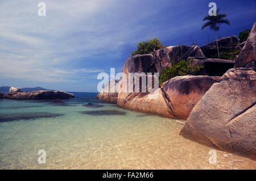
POLYGON ((115 90, 115 86, 117 85, 118 81, 110 80, 104 86, 104 89, 97 95, 97 98, 103 102, 109 103, 117 103, 117 91, 115 90), (112 89, 114 92, 112 92, 112 89))

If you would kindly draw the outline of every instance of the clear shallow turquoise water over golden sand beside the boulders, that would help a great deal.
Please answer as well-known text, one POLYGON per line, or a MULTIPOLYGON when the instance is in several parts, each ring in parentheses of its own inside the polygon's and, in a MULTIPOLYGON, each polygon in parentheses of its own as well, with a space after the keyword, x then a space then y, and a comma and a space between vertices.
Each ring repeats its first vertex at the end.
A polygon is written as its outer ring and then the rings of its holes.
POLYGON ((100 103, 95 93, 75 95, 62 106, 36 100, 0 100, 0 117, 6 113, 10 117, 17 113, 32 116, 19 120, 19 114, 13 121, 0 121, 0 169, 256 168, 255 161, 220 150, 216 150, 217 163, 210 164, 212 148, 179 135, 184 121, 100 103), (89 102, 104 106, 82 106, 89 102), (100 110, 124 111, 126 115, 81 113, 100 110), (40 117, 47 113, 60 115, 40 117), (38 163, 39 150, 46 151, 46 164, 38 163))

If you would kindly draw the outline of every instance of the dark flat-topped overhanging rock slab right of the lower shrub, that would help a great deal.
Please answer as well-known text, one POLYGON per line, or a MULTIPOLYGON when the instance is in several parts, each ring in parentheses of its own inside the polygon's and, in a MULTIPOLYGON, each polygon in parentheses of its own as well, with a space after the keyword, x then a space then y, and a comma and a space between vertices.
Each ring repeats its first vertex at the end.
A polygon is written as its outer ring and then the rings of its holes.
POLYGON ((222 60, 218 58, 188 57, 187 61, 194 65, 204 65, 196 75, 222 76, 229 69, 234 68, 233 60, 222 60))

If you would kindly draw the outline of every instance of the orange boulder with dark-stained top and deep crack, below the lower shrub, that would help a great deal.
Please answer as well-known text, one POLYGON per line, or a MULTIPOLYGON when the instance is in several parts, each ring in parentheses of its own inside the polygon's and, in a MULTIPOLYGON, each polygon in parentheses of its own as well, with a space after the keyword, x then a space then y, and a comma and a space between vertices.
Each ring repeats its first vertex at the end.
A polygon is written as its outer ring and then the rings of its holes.
POLYGON ((219 81, 220 77, 203 75, 174 77, 146 96, 128 96, 122 107, 185 120, 210 86, 219 81))

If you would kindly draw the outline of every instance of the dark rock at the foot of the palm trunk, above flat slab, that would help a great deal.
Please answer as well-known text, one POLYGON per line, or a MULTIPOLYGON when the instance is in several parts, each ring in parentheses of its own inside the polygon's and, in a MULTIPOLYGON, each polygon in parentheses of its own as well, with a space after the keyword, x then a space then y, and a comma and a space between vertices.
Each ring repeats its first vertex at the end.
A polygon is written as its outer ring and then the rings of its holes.
MULTIPOLYGON (((220 50, 220 52, 222 50, 235 49, 238 44, 237 36, 223 37, 222 39, 218 39, 217 41, 218 41, 218 49, 220 50)), ((200 48, 203 51, 205 57, 212 57, 218 53, 216 40, 200 48)))

